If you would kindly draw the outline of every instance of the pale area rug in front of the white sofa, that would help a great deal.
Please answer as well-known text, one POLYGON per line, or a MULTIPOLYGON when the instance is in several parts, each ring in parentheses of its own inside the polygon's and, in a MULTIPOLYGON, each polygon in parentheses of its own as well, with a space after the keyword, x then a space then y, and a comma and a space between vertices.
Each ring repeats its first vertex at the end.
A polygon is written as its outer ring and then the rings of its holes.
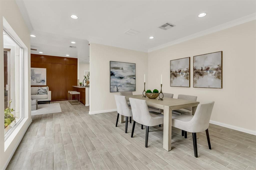
POLYGON ((31 115, 41 115, 61 112, 59 103, 38 104, 37 110, 31 111, 31 115))

